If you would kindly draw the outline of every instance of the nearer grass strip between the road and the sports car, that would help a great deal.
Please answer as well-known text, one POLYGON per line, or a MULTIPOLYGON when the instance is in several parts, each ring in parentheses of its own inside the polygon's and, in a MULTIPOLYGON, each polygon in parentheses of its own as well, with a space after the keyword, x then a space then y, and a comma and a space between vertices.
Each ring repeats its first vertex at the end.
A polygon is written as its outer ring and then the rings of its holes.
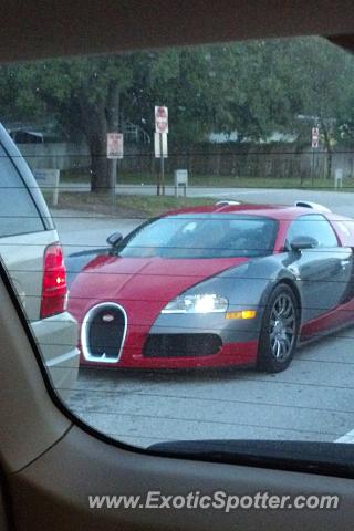
MULTIPOLYGON (((49 205, 51 196, 44 194, 49 205)), ((171 196, 116 196, 116 204, 112 205, 112 198, 106 194, 91 194, 65 191, 59 194, 58 208, 67 208, 73 210, 86 210, 102 214, 114 214, 119 217, 134 214, 142 217, 158 216, 166 210, 174 208, 195 207, 198 205, 212 205, 215 199, 194 198, 194 197, 171 197, 171 196)))

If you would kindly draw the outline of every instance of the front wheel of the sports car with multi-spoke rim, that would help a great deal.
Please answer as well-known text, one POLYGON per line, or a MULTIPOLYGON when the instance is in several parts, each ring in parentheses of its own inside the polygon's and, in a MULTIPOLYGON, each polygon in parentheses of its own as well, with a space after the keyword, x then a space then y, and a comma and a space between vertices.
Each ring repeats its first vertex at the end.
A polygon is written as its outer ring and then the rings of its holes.
POLYGON ((298 299, 288 284, 278 284, 270 294, 263 315, 258 368, 280 373, 290 365, 296 348, 299 326, 298 299))

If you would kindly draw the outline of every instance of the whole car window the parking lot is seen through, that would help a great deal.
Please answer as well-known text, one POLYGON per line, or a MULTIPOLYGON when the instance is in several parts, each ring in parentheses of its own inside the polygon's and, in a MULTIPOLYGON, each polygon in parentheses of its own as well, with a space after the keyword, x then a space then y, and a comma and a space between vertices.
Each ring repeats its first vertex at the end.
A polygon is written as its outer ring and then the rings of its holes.
POLYGON ((0 259, 69 409, 139 447, 353 441, 353 54, 0 71, 0 259))

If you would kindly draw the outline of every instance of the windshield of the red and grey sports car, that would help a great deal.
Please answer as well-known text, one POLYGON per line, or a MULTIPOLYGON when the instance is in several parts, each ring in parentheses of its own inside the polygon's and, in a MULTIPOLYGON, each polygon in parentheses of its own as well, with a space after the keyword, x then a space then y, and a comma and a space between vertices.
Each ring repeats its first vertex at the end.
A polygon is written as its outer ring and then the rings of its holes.
POLYGON ((269 254, 277 221, 261 216, 179 214, 138 228, 126 238, 119 257, 232 258, 269 254))

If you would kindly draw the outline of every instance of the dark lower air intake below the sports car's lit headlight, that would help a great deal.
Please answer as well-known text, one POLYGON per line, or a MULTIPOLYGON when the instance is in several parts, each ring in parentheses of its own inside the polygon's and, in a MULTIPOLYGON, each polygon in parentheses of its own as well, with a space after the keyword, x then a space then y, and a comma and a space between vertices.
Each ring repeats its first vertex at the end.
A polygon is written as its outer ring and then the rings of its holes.
POLYGON ((144 346, 144 356, 211 356, 221 347, 222 341, 217 334, 150 334, 144 346))

